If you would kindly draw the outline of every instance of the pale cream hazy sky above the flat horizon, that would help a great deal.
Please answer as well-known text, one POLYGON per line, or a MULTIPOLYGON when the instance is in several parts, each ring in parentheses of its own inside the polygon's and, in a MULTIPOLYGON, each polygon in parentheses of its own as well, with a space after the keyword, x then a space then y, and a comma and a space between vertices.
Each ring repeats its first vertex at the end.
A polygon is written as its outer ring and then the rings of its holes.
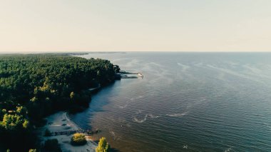
POLYGON ((271 51, 270 0, 0 0, 0 53, 271 51))

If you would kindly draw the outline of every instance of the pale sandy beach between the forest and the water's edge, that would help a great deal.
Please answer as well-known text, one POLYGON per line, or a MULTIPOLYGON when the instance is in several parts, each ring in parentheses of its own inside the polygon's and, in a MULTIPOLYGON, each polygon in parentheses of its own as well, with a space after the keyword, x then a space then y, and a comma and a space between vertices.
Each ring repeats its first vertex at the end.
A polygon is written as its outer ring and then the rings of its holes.
POLYGON ((44 136, 46 129, 51 132, 76 131, 79 129, 78 126, 76 126, 76 124, 68 118, 66 112, 61 111, 55 113, 51 116, 48 116, 46 120, 46 125, 39 128, 39 138, 41 139, 41 143, 44 143, 44 141, 47 139, 56 138, 63 152, 95 151, 97 143, 93 142, 90 138, 87 138, 87 143, 84 146, 72 146, 70 143, 72 135, 44 136))

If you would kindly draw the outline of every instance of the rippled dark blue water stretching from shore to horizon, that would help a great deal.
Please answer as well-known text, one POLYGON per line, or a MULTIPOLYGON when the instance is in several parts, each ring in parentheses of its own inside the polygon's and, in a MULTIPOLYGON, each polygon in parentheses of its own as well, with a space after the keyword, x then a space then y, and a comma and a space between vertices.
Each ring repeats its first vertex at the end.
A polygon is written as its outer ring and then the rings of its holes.
POLYGON ((271 151, 270 53, 88 54, 122 79, 71 116, 120 151, 271 151))

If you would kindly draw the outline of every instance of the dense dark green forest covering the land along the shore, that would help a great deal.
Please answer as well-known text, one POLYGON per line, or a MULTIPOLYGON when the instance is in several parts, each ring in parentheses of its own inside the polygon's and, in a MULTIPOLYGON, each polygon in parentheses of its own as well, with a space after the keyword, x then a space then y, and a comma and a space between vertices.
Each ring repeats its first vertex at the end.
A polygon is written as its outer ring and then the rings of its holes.
POLYGON ((0 56, 0 142, 9 146, 14 137, 24 140, 41 118, 54 111, 88 106, 88 88, 111 83, 118 71, 118 66, 102 59, 0 56))

